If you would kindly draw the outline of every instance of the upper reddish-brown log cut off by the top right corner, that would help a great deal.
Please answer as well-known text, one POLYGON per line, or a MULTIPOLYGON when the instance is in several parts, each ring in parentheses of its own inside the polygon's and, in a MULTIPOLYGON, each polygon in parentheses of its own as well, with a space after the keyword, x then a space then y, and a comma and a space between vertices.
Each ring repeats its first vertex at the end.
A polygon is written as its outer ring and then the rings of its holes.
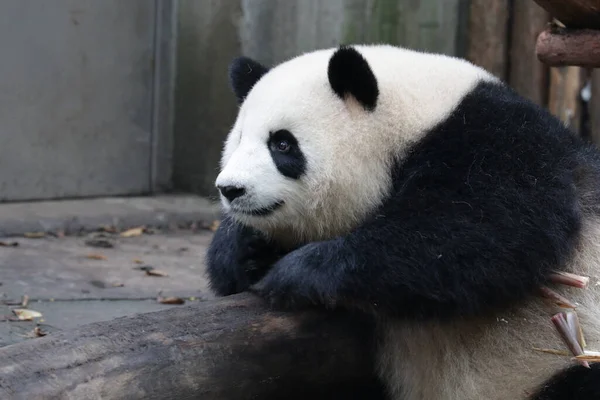
POLYGON ((598 0, 534 0, 568 28, 600 29, 598 0))

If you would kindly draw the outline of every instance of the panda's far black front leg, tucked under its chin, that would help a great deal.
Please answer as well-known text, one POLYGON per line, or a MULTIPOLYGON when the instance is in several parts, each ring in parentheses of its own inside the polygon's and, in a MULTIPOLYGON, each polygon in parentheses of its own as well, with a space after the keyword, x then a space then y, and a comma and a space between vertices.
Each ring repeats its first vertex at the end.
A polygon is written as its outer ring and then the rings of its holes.
POLYGON ((260 232, 225 217, 206 253, 209 285, 219 296, 243 292, 284 254, 260 232))

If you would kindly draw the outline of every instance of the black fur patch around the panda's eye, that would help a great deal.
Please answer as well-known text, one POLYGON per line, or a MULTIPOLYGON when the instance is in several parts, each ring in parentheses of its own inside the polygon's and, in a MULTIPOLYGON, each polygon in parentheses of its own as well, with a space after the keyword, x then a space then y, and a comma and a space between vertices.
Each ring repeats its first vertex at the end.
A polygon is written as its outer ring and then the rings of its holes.
POLYGON ((299 179, 306 172, 306 158, 300 149, 294 135, 285 129, 272 133, 269 136, 269 151, 275 166, 283 176, 299 179), (287 151, 281 151, 279 143, 288 144, 287 151))

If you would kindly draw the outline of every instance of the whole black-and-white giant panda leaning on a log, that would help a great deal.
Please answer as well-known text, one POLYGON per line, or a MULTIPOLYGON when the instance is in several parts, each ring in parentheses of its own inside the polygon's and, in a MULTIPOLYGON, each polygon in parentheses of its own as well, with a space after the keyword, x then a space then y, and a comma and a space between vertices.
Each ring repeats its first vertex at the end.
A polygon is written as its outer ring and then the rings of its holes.
POLYGON ((599 399, 600 154, 467 60, 343 45, 236 58, 206 254, 220 296, 374 315, 390 399, 599 399), (557 272, 590 278, 559 285, 557 272))

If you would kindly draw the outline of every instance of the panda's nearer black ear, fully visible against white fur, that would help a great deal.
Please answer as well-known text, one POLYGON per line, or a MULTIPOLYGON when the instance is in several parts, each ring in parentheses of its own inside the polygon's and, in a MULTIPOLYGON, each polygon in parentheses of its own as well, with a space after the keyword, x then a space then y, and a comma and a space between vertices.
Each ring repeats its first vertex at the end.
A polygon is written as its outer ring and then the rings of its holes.
POLYGON ((327 70, 329 84, 342 99, 352 95, 366 110, 377 105, 379 88, 369 63, 353 47, 341 46, 333 53, 327 70))

